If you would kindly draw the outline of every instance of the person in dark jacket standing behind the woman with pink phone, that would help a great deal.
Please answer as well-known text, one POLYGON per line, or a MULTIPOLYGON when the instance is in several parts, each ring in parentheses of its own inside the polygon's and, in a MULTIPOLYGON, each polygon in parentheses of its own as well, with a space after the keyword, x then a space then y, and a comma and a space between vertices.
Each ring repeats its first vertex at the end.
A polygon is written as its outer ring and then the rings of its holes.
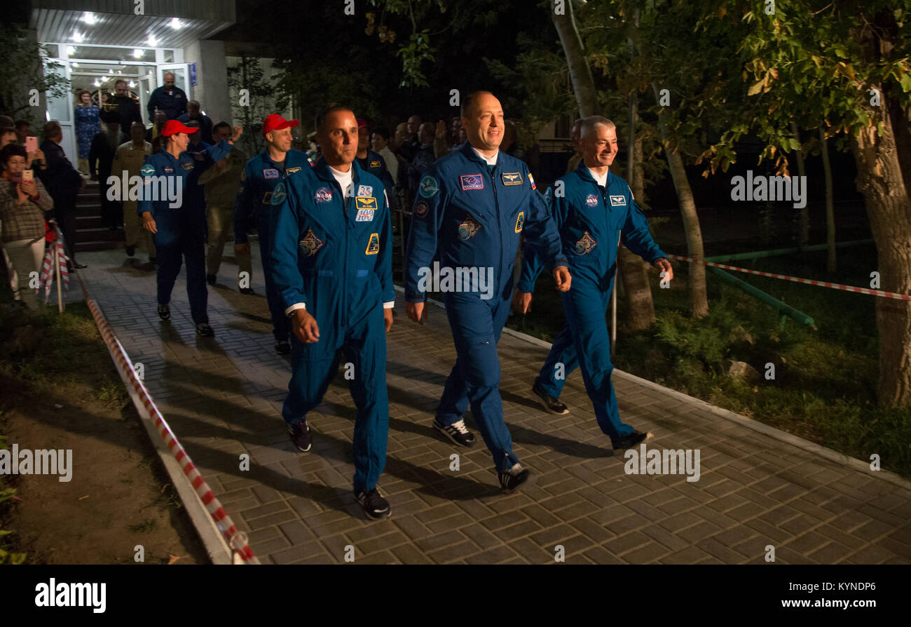
POLYGON ((63 233, 64 247, 71 262, 69 268, 71 271, 81 270, 87 266, 76 261, 76 197, 79 190, 86 186, 86 181, 60 146, 63 139, 60 123, 47 122, 44 135, 41 151, 45 154, 47 167, 36 170, 36 174, 54 199, 54 215, 63 233))

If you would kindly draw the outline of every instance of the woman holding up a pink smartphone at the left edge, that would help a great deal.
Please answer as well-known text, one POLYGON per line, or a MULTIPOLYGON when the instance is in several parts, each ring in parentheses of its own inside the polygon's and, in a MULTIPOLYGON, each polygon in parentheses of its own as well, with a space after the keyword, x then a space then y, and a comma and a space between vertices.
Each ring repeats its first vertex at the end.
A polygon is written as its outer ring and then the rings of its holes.
POLYGON ((32 272, 41 272, 45 256, 45 217, 54 201, 40 180, 26 170, 26 149, 8 144, 0 149, 0 239, 9 255, 10 274, 15 272, 16 300, 37 308, 38 296, 29 289, 32 272))

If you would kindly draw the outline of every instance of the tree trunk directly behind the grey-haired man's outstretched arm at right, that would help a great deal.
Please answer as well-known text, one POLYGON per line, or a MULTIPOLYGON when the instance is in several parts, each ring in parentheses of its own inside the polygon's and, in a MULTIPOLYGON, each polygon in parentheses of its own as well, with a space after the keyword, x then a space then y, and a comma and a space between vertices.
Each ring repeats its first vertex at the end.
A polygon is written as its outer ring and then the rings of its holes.
MULTIPOLYGON (((630 158, 627 182, 630 184, 633 197, 638 196, 641 199, 644 181, 641 180, 642 167, 640 166, 642 140, 635 139, 636 122, 639 119, 637 107, 638 98, 634 92, 630 94, 630 158)), ((642 331, 655 322, 655 303, 651 300, 649 265, 623 244, 619 245, 617 253, 620 283, 623 285, 622 295, 625 296, 624 303, 626 303, 627 310, 627 326, 630 331, 642 331)))

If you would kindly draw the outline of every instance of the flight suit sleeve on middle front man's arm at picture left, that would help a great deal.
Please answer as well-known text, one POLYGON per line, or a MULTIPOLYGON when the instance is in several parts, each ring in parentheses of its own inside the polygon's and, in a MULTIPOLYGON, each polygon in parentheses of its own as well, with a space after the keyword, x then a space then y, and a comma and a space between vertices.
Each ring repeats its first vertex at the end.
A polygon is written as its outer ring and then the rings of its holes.
POLYGON ((436 234, 443 226, 445 199, 443 177, 433 167, 421 179, 412 210, 411 231, 408 231, 404 283, 404 296, 408 303, 423 303, 426 299, 422 283, 425 283, 426 269, 436 254, 436 234), (425 269, 424 272, 422 269, 425 269))

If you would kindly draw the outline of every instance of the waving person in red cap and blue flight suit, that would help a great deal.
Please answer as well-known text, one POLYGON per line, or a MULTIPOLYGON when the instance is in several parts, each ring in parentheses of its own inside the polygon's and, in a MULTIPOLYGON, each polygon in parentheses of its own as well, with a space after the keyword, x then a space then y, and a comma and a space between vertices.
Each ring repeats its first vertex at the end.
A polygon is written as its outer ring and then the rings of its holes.
POLYGON ((196 333, 210 337, 215 332, 206 312, 206 207, 199 180, 203 171, 230 152, 243 130, 234 127, 231 139, 206 149, 206 159, 199 160, 187 152, 188 133, 197 130, 174 119, 165 124, 161 130, 164 149, 146 157, 139 170, 144 183, 136 211, 146 231, 153 233, 158 252, 159 317, 170 318, 170 294, 182 256, 187 261, 187 295, 196 333))

